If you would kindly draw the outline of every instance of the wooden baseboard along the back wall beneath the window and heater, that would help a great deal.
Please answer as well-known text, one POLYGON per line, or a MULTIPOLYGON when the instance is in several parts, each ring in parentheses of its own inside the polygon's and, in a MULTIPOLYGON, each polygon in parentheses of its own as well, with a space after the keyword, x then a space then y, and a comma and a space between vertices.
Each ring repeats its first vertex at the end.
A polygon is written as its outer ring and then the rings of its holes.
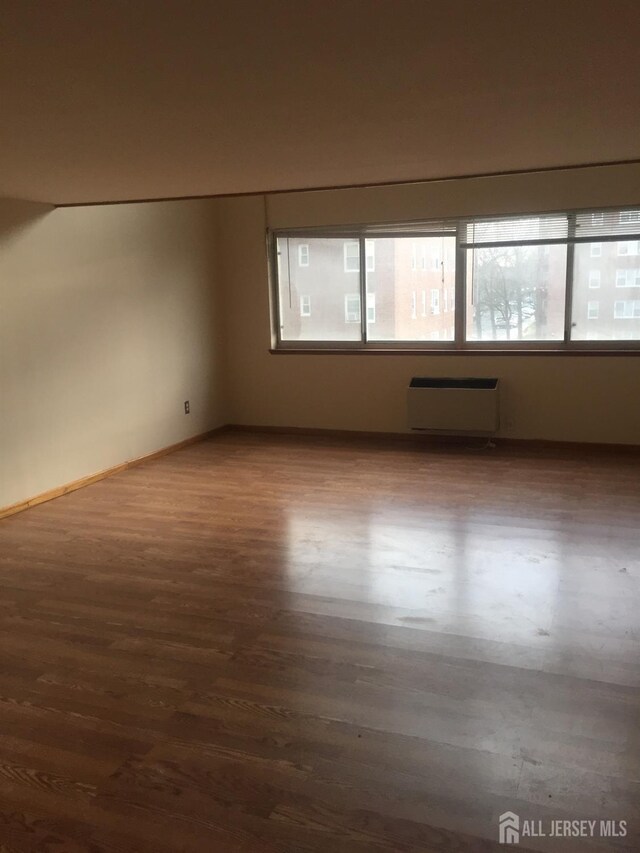
POLYGON ((438 447, 468 446, 470 442, 477 442, 478 446, 485 446, 487 442, 495 444, 498 448, 522 451, 527 453, 547 454, 615 454, 625 456, 640 455, 638 444, 606 444, 603 442, 586 441, 553 441, 551 439, 538 438, 501 438, 474 436, 474 435, 436 435, 421 432, 369 432, 364 430, 346 429, 322 429, 318 427, 274 427, 274 426, 251 426, 246 424, 228 424, 226 429, 230 432, 254 432, 268 433, 270 435, 283 436, 308 436, 315 438, 326 438, 334 440, 352 441, 379 441, 379 442, 413 442, 428 444, 438 447))

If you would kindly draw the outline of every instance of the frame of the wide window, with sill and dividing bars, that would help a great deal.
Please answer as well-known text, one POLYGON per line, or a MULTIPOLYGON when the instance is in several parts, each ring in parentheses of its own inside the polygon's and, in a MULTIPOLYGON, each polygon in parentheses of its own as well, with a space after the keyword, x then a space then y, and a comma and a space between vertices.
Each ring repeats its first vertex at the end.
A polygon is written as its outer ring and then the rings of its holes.
MULTIPOLYGON (((629 206, 627 206, 629 207, 629 206)), ((633 205, 636 209, 640 207, 633 205)), ((612 213, 621 214, 631 211, 625 211, 620 206, 610 208, 597 208, 595 213, 612 213)), ((609 243, 620 242, 621 239, 640 240, 640 220, 638 231, 621 237, 619 234, 606 235, 604 233, 595 234, 591 237, 576 236, 576 217, 592 213, 589 208, 580 208, 576 210, 563 211, 535 211, 523 212, 521 214, 496 214, 487 216, 468 216, 450 218, 446 220, 447 227, 440 230, 425 230, 425 226, 429 226, 429 220, 420 220, 417 222, 406 222, 402 226, 390 227, 385 223, 352 225, 352 226, 337 226, 331 228, 324 227, 302 227, 302 228, 267 228, 267 251, 269 259, 269 280, 270 280, 270 308, 271 308, 271 348, 272 353, 313 353, 313 352, 330 352, 335 354, 341 353, 412 353, 421 352, 429 354, 450 354, 450 355, 469 355, 469 354, 491 354, 491 355, 624 355, 636 354, 640 355, 640 340, 572 340, 572 309, 574 295, 574 247, 578 244, 593 244, 593 243, 609 243), (564 338, 563 340, 553 341, 467 341, 465 340, 467 328, 467 249, 463 247, 463 233, 466 226, 474 220, 496 220, 502 221, 507 219, 521 218, 537 218, 546 215, 566 216, 568 224, 567 237, 552 238, 539 240, 515 241, 515 245, 566 245, 566 281, 565 281, 565 316, 564 316, 564 338), (449 310, 454 311, 454 338, 453 340, 442 341, 417 341, 417 340, 393 340, 393 341, 369 341, 367 337, 367 255, 366 241, 383 239, 383 238, 416 238, 416 237, 455 237, 455 279, 452 288, 453 300, 450 300, 449 310), (360 292, 360 340, 344 341, 344 340, 282 340, 280 334, 280 317, 279 317, 279 292, 278 292, 278 258, 277 258, 277 241, 279 238, 294 238, 300 239, 308 237, 339 239, 350 242, 359 243, 359 292, 360 292), (365 262, 362 263, 363 258, 365 262), (364 306, 364 308, 363 308, 364 306)), ((635 220, 634 220, 635 222, 635 220)), ((625 224, 630 224, 626 223, 625 224)), ((605 225, 606 228, 606 225, 605 225)), ((604 228, 603 228, 604 231, 604 228)), ((599 256, 598 256, 599 257, 599 256)), ((374 261, 375 264, 375 261, 374 261)), ((345 272, 347 270, 345 269, 345 272)), ((356 272, 356 270, 349 270, 356 272)), ((354 282, 355 284, 355 282, 354 282)), ((588 290, 589 288, 587 288, 588 290)), ((417 294, 416 294, 417 297, 417 294)), ((417 302, 417 299, 416 299, 417 302)), ((417 309, 417 305, 416 305, 417 309)), ((417 313, 417 311, 416 311, 417 313)))

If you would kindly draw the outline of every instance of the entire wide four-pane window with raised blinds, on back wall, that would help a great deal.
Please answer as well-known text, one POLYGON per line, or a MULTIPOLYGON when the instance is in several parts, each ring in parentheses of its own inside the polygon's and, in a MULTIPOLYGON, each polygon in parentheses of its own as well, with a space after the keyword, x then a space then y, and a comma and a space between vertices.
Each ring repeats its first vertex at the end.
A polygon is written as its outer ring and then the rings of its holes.
POLYGON ((270 246, 280 349, 640 348, 640 210, 276 231, 270 246))

